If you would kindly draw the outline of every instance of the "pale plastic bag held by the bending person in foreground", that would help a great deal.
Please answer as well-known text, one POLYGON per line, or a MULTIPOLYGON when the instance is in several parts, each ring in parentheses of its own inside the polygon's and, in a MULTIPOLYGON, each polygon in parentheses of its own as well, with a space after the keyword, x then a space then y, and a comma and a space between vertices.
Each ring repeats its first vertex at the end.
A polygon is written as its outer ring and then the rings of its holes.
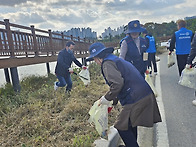
POLYGON ((108 130, 108 106, 100 105, 99 100, 97 100, 91 107, 89 114, 89 122, 94 123, 95 128, 100 136, 105 136, 108 130))

